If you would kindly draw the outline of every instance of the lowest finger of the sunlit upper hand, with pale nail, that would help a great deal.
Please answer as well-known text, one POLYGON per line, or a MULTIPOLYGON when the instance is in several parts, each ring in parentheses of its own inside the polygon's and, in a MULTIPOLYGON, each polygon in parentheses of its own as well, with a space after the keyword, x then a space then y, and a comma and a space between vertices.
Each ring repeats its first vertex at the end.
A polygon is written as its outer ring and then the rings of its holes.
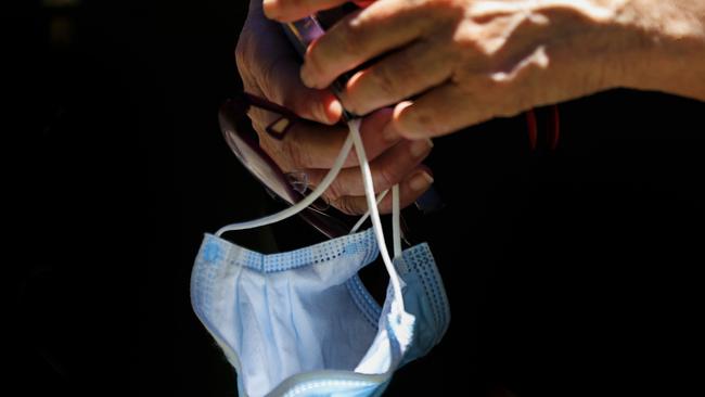
POLYGON ((399 103, 390 127, 407 139, 443 136, 492 118, 491 111, 498 108, 485 102, 473 92, 446 84, 413 102, 399 103))

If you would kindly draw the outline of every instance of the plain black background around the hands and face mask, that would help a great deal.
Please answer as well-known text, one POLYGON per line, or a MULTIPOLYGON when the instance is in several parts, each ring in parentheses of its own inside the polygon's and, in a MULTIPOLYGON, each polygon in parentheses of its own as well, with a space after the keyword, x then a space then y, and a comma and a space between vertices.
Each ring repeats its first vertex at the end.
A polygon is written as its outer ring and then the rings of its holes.
MULTIPOLYGON (((13 290, 24 395, 236 394, 189 277, 202 233, 277 208, 217 124, 240 88, 245 5, 145 3, 31 5, 23 72, 36 91, 20 130, 38 166, 13 290)), ((561 110, 552 153, 528 152, 521 118, 435 141, 448 205, 413 227, 452 325, 389 395, 698 386, 704 106, 616 90, 561 110)), ((297 220, 232 239, 261 248, 272 235, 280 248, 320 240, 297 220)))

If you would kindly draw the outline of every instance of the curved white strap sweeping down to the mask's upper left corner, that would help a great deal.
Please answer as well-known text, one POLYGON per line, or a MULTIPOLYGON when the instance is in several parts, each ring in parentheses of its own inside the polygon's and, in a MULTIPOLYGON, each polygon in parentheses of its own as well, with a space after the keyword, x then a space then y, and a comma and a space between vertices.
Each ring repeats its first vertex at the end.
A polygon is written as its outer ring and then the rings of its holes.
POLYGON ((335 177, 337 177, 338 172, 343 168, 343 164, 345 164, 345 159, 347 158, 351 149, 352 149, 352 135, 348 135, 347 139, 345 140, 345 143, 343 144, 343 149, 341 149, 341 153, 335 158, 335 163, 333 164, 331 170, 325 175, 325 178, 323 178, 321 183, 318 187, 316 187, 316 189, 311 192, 311 194, 304 197, 304 200, 302 200, 300 202, 292 205, 291 207, 284 210, 281 210, 277 214, 272 214, 270 216, 266 216, 264 218, 225 226, 216 232, 216 235, 220 236, 222 233, 231 230, 253 229, 253 228, 259 228, 262 226, 275 223, 280 220, 292 217, 300 213, 302 210, 306 209, 309 205, 311 205, 316 201, 316 198, 320 197, 321 194, 325 192, 325 190, 328 189, 328 187, 331 185, 331 183, 333 183, 333 180, 335 179, 335 177))

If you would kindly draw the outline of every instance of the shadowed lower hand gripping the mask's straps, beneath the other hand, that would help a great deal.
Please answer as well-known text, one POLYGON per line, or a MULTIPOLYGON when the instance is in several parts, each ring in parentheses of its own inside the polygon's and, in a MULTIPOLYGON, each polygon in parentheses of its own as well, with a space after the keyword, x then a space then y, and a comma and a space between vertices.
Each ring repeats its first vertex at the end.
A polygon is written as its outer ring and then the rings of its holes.
MULTIPOLYGON (((278 115, 253 107, 249 117, 259 145, 285 171, 304 171, 309 184, 319 183, 333 165, 347 137, 345 126, 335 125, 341 103, 328 90, 310 89, 299 77, 299 61, 281 27, 262 13, 261 0, 253 0, 235 52, 245 91, 283 105, 306 118, 296 123, 283 140, 271 138, 265 128, 278 115), (310 121, 309 121, 310 120, 310 121)), ((433 183, 431 170, 421 162, 431 153, 430 140, 408 141, 385 127, 392 110, 368 115, 360 129, 370 159, 375 193, 399 183, 401 206, 413 203, 433 183), (386 133, 385 133, 386 131, 386 133)), ((324 193, 335 208, 350 215, 367 212, 367 201, 357 156, 351 153, 345 168, 324 193)), ((380 203, 380 212, 392 210, 392 195, 380 203)))

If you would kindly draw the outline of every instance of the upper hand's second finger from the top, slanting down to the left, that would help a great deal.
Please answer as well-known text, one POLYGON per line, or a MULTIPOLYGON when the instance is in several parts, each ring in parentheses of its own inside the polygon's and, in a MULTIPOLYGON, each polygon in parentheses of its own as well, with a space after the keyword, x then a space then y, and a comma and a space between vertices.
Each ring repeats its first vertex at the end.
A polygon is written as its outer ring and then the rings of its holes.
POLYGON ((364 61, 413 41, 435 22, 423 15, 415 1, 375 2, 346 16, 309 46, 302 80, 308 87, 325 88, 364 61))

